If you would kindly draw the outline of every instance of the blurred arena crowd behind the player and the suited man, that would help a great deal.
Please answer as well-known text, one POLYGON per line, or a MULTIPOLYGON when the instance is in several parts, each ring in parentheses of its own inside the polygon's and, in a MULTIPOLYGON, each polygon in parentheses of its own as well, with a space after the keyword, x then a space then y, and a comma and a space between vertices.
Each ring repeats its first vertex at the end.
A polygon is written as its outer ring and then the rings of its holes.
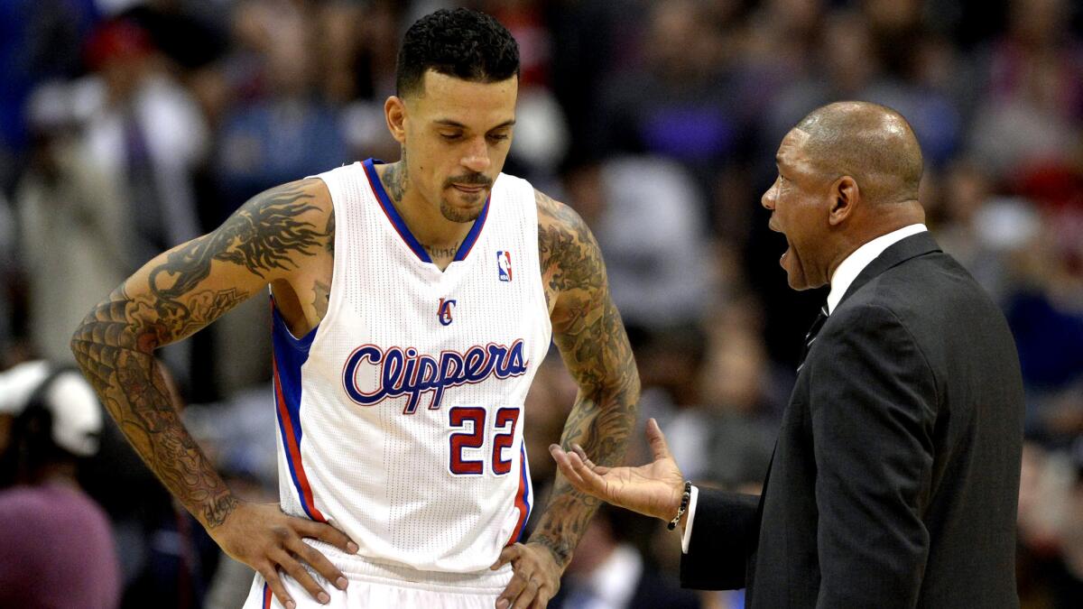
MULTIPOLYGON (((779 141, 831 101, 904 115, 925 153, 929 228, 1001 303, 1019 349, 1023 607, 1081 606, 1078 2, 464 3, 495 15, 520 43, 505 171, 573 206, 593 230, 636 350, 641 418, 660 420, 697 483, 757 492, 800 337, 825 298, 787 288, 784 241, 759 206, 779 141)), ((71 332, 94 303, 248 197, 344 163, 397 159, 382 106, 399 40, 448 4, 0 2, 0 371, 10 368, 0 396, 14 403, 12 383, 52 383, 55 374, 27 376, 17 364, 63 371, 71 332)), ((269 329, 266 302, 256 298, 162 358, 192 404, 190 426, 230 483, 273 501, 269 329)), ((552 360, 526 409, 539 504, 554 470, 545 446, 575 394, 552 360)), ((18 445, 25 426, 11 422, 24 405, 0 409, 0 449, 18 445)), ((61 452, 80 464, 80 492, 94 501, 73 509, 108 518, 116 554, 102 560, 118 562, 102 576, 116 579, 122 606, 239 606, 251 572, 219 555, 108 417, 101 427, 100 448, 61 452)), ((644 446, 628 458, 645 461, 644 446)), ((604 509, 551 606, 742 606, 740 593, 678 591, 679 539, 658 524, 604 509)))

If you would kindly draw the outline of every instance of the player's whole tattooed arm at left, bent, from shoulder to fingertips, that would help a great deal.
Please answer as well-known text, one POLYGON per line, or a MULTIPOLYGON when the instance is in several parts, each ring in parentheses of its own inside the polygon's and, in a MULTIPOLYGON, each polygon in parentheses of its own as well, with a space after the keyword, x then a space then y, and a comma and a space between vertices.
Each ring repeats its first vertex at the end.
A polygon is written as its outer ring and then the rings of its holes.
POLYGON ((261 193, 214 232, 147 262, 87 315, 71 339, 83 375, 143 461, 226 554, 263 573, 272 587, 278 584, 275 593, 283 604, 288 595, 276 568, 298 572, 295 576, 313 596, 318 594, 290 552, 332 582, 341 575, 327 570, 325 558, 312 556, 302 536, 341 547, 349 540, 327 524, 288 518, 277 506, 238 501, 181 423, 153 352, 192 335, 269 283, 276 293, 300 294, 303 284, 313 289, 313 280, 328 264, 326 247, 334 235, 324 228, 331 226, 329 218, 330 196, 319 180, 261 193))

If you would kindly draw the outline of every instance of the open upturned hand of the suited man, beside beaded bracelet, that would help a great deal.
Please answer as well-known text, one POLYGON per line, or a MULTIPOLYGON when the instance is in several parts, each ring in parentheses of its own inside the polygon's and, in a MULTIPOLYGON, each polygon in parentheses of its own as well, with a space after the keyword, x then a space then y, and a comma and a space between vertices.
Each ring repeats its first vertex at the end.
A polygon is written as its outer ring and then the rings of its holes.
POLYGON ((557 444, 549 453, 560 472, 577 490, 606 503, 669 521, 680 508, 684 477, 669 454, 666 437, 653 418, 647 422, 647 441, 654 461, 639 467, 604 467, 587 458, 583 448, 571 453, 557 444))

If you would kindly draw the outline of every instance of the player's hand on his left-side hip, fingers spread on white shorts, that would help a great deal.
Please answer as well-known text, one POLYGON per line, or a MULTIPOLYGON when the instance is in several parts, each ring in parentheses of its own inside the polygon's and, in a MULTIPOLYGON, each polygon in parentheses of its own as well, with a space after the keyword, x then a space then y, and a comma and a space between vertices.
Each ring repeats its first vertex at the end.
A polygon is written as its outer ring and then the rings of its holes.
POLYGON ((347 586, 342 572, 302 539, 316 539, 350 554, 357 552, 357 544, 342 531, 324 522, 287 516, 273 503, 240 502, 221 526, 208 532, 231 558, 259 571, 286 609, 297 604, 286 592, 279 569, 289 573, 321 604, 329 602, 330 596, 304 569, 305 563, 339 589, 347 586))

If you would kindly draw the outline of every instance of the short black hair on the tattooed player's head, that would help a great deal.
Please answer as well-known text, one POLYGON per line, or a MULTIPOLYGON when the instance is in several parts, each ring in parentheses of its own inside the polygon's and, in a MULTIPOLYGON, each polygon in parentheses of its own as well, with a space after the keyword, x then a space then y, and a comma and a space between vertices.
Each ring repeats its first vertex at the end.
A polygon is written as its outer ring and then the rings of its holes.
POLYGON ((409 26, 399 49, 395 94, 416 93, 435 70, 475 82, 519 76, 519 43, 495 18, 469 9, 441 9, 409 26))

